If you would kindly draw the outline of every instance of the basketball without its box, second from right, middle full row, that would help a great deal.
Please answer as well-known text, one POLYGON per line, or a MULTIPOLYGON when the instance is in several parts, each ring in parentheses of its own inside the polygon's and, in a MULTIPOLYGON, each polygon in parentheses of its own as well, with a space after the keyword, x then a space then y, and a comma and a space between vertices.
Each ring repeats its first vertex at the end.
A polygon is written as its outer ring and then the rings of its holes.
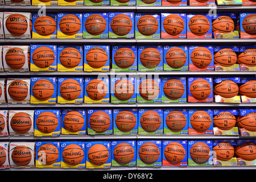
POLYGON ((214 85, 214 95, 224 98, 232 98, 238 94, 238 85, 233 80, 222 80, 220 83, 214 85))

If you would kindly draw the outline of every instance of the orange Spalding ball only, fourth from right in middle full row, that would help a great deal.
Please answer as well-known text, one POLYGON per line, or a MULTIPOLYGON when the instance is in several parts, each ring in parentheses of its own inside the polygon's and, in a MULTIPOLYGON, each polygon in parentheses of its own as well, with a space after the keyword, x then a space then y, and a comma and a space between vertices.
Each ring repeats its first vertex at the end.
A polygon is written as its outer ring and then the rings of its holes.
POLYGON ((170 100, 177 100, 183 96, 185 88, 180 80, 170 79, 164 83, 163 92, 170 100))

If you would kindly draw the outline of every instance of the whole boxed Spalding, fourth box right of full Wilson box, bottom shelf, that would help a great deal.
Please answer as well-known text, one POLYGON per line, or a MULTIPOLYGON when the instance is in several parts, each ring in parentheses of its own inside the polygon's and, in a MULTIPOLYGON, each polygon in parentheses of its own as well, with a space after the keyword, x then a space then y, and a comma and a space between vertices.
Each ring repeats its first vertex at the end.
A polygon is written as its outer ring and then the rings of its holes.
POLYGON ((136 140, 111 142, 112 167, 136 166, 136 140))

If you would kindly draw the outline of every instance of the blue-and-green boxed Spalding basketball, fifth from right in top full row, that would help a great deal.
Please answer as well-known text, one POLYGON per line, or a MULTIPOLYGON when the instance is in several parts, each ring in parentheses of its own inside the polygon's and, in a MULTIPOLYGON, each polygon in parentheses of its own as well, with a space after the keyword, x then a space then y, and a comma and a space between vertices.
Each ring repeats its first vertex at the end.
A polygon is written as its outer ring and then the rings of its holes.
POLYGON ((160 14, 135 14, 135 39, 160 39, 160 14))

